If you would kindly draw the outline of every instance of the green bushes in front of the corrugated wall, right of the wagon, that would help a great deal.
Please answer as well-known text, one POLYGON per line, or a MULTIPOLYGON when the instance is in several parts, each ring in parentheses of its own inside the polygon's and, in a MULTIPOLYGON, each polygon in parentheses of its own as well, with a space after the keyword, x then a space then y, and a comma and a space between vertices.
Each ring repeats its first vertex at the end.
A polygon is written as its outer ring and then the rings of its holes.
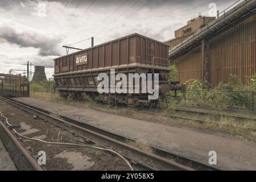
POLYGON ((256 75, 251 76, 249 85, 243 85, 237 76, 230 75, 227 83, 220 82, 216 88, 209 90, 210 84, 206 81, 188 80, 185 83, 186 92, 179 93, 182 98, 170 98, 170 107, 174 105, 191 105, 215 107, 223 109, 256 110, 253 102, 256 100, 256 75))

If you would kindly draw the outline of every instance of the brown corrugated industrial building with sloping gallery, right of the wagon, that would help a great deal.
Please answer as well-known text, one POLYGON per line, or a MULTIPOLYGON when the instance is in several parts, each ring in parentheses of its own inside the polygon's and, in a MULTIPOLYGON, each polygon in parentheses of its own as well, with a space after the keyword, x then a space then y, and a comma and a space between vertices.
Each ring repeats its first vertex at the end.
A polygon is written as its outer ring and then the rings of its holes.
POLYGON ((256 71, 256 1, 240 1, 216 17, 199 16, 166 41, 180 82, 206 80, 212 87, 236 75, 248 84, 256 71))

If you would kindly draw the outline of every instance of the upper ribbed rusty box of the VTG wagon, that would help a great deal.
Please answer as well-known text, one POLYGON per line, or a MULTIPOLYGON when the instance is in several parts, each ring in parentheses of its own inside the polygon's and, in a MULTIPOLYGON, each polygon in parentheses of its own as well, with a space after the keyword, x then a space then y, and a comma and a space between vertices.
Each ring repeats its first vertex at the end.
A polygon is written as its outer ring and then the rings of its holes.
MULTIPOLYGON (((116 65, 152 64, 152 57, 168 59, 167 44, 139 34, 131 34, 98 46, 55 59, 55 75, 75 71, 109 68, 116 65), (86 64, 76 64, 77 56, 87 55, 86 64)), ((156 59, 155 65, 167 66, 167 61, 156 59)))

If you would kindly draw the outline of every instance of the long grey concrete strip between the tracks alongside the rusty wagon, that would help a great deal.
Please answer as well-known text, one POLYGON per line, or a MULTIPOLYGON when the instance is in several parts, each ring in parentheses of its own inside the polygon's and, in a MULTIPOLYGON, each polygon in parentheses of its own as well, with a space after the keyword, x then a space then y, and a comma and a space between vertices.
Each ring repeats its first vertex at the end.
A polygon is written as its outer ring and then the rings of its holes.
POLYGON ((198 131, 160 125, 126 118, 92 109, 57 104, 35 98, 14 98, 48 111, 61 111, 65 117, 76 119, 100 129, 209 165, 209 151, 217 152, 217 165, 225 170, 256 170, 256 143, 220 137, 198 131))

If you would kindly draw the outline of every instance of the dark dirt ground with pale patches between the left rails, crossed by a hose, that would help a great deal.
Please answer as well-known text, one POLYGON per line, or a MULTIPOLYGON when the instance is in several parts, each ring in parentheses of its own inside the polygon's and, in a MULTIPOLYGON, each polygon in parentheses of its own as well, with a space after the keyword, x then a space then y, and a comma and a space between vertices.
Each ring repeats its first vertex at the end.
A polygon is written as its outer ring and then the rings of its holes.
MULTIPOLYGON (((0 111, 9 119, 11 125, 20 124, 21 127, 17 131, 26 137, 48 142, 84 144, 79 141, 82 138, 43 119, 35 119, 33 115, 24 113, 4 101, 0 101, 0 111)), ((47 170, 129 170, 121 158, 105 151, 88 147, 45 144, 27 139, 20 140, 35 158, 39 157, 39 151, 46 152, 46 165, 43 167, 47 170)))

